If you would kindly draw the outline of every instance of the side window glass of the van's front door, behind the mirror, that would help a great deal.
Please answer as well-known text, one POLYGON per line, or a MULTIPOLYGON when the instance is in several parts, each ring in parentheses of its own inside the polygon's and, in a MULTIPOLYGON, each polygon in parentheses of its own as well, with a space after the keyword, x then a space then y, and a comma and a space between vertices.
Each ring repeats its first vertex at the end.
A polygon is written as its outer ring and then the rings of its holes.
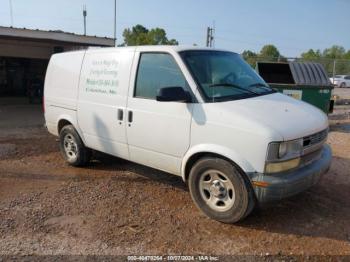
POLYGON ((162 87, 182 87, 188 90, 187 81, 170 54, 141 54, 134 96, 156 99, 158 90, 162 87))

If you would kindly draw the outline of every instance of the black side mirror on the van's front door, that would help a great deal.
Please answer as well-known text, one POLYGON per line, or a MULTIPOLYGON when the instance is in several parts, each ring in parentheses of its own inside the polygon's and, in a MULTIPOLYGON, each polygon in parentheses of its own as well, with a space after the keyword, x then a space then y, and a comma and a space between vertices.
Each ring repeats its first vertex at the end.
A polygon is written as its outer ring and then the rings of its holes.
POLYGON ((158 90, 157 101, 191 103, 192 97, 182 87, 163 87, 158 90))

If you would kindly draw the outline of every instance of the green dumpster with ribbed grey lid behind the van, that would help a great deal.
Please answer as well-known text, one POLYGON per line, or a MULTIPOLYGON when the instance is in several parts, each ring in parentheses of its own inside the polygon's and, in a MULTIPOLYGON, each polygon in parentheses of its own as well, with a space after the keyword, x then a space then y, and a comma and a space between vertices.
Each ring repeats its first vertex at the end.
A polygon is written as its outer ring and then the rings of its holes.
POLYGON ((256 70, 271 88, 310 103, 326 114, 333 111, 333 85, 321 64, 258 62, 256 70))

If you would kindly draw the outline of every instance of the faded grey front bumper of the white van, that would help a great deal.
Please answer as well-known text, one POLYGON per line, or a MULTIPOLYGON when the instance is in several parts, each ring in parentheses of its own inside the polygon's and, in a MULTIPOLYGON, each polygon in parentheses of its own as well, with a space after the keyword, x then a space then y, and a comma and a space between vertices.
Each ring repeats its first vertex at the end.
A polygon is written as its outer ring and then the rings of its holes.
POLYGON ((315 185, 326 173, 331 165, 332 150, 329 145, 324 145, 321 157, 314 162, 296 170, 279 174, 249 174, 253 182, 265 182, 267 186, 254 186, 254 191, 259 203, 266 203, 290 197, 303 192, 315 185))

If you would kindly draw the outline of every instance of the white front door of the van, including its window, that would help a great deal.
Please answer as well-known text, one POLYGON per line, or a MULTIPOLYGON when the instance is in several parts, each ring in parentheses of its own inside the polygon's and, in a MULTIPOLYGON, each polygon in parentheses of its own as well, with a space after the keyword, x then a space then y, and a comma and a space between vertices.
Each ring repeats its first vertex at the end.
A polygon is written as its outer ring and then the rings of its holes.
POLYGON ((162 87, 189 91, 178 63, 170 53, 135 52, 127 105, 130 160, 180 174, 190 145, 193 104, 158 102, 162 87))

